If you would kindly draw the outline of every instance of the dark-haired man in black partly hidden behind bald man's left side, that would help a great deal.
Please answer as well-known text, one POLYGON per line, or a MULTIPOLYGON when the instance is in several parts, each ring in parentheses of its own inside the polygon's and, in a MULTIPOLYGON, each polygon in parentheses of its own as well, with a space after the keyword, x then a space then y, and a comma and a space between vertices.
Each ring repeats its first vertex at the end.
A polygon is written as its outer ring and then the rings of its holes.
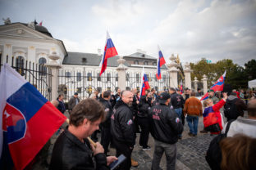
POLYGON ((103 98, 99 98, 99 102, 103 104, 103 107, 106 112, 106 118, 103 123, 101 123, 101 141, 100 144, 103 145, 104 153, 107 154, 108 145, 111 140, 111 133, 110 133, 110 117, 112 114, 112 105, 110 103, 111 92, 105 91, 103 92, 103 98))

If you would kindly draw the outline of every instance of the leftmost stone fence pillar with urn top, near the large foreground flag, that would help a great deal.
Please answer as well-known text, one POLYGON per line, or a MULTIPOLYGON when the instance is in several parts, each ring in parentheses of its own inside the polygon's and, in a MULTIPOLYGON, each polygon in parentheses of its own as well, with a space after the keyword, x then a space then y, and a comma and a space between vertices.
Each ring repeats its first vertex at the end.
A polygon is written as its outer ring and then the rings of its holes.
POLYGON ((49 69, 52 69, 52 100, 56 99, 58 96, 57 89, 58 89, 58 71, 60 68, 62 68, 61 65, 57 63, 57 60, 59 60, 61 57, 57 56, 56 52, 53 52, 53 54, 48 56, 51 61, 46 64, 46 66, 49 69))

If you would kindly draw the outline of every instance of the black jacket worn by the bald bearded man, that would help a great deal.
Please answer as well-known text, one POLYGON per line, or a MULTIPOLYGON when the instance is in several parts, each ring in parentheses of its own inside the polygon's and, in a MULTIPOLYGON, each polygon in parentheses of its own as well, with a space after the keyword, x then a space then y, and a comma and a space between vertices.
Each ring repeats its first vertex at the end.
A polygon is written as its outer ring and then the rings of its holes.
POLYGON ((111 133, 113 140, 121 141, 130 147, 135 145, 133 112, 122 100, 117 101, 112 111, 111 133))

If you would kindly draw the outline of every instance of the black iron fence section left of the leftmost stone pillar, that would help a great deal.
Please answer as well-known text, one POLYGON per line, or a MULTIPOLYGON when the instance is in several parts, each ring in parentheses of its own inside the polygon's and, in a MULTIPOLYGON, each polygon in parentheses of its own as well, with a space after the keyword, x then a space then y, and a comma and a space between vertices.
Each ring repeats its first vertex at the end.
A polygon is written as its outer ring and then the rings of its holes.
POLYGON ((2 69, 2 63, 11 65, 13 69, 21 74, 28 82, 36 87, 39 92, 48 99, 52 100, 52 71, 44 65, 35 64, 34 62, 24 60, 22 57, 6 56, 3 60, 2 54, 0 54, 0 71, 2 69), (9 62, 11 60, 11 62, 9 62), (8 63, 9 62, 9 63, 8 63))

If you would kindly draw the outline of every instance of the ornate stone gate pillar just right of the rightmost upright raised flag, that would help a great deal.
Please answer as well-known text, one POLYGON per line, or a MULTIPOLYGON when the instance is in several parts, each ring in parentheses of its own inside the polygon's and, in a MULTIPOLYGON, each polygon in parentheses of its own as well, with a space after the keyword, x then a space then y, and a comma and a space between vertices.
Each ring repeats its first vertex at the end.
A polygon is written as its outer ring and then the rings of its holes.
POLYGON ((171 60, 171 63, 167 65, 168 71, 169 71, 169 76, 170 76, 170 87, 178 87, 178 71, 177 69, 178 64, 175 62, 176 57, 171 54, 171 57, 169 58, 171 60))

